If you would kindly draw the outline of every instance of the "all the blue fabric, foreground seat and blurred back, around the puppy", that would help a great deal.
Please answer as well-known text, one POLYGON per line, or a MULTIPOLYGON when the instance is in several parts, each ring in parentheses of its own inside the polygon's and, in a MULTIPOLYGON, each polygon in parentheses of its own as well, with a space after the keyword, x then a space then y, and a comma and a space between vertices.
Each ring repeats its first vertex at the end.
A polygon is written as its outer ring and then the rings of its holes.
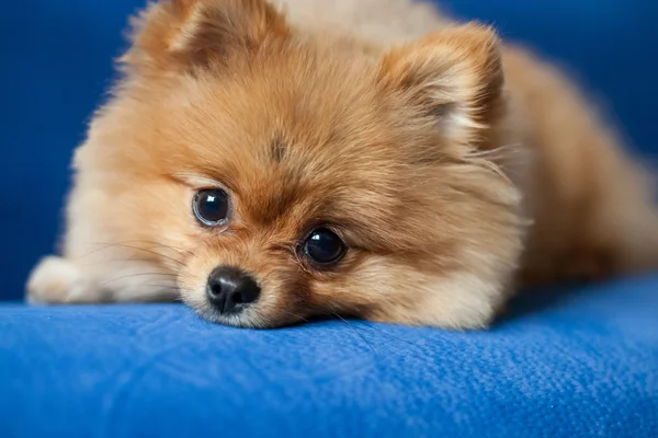
MULTIPOLYGON (((143 0, 0 13, 0 299, 53 251, 66 170, 143 0)), ((658 2, 452 0, 558 58, 658 152, 658 2)), ((658 437, 658 278, 542 295, 486 333, 213 326, 181 306, 0 306, 0 437, 658 437)))

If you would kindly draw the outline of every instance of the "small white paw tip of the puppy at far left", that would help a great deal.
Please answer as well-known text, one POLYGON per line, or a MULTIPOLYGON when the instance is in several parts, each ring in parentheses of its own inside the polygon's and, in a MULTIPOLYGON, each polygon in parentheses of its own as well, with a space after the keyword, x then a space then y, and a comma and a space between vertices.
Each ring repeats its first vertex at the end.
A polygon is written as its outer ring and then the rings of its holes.
POLYGON ((55 256, 46 257, 36 265, 26 289, 27 301, 35 304, 89 301, 92 292, 90 281, 76 265, 55 256))

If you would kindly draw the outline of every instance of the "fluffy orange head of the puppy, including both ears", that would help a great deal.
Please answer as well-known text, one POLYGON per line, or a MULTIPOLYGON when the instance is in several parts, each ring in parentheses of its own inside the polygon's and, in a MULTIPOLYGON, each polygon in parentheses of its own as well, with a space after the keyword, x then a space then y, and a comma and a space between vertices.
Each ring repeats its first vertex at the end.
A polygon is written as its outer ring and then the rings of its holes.
POLYGON ((374 55, 263 0, 172 0, 136 28, 77 163, 114 184, 121 239, 175 250, 159 262, 200 314, 490 319, 520 227, 486 159, 503 107, 488 27, 374 55))

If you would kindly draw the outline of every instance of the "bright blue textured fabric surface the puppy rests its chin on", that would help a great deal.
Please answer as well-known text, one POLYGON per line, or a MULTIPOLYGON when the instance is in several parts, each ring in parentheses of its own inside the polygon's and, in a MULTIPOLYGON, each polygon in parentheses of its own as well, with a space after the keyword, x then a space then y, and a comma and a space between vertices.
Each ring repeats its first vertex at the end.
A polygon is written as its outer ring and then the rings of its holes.
POLYGON ((658 277, 490 332, 0 307, 2 437, 658 437, 658 277))

